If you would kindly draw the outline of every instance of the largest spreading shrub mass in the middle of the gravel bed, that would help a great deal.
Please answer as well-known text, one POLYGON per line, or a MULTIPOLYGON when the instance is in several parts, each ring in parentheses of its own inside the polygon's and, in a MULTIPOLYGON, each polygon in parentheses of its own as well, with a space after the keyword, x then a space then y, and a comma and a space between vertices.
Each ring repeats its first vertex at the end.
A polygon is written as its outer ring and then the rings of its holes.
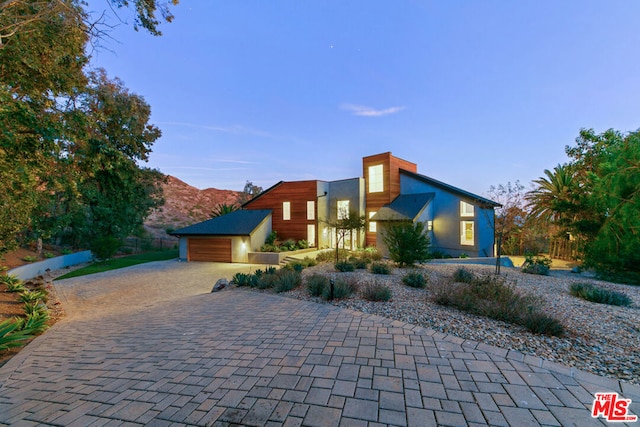
POLYGON ((534 333, 561 336, 562 324, 542 312, 539 302, 523 295, 496 276, 476 277, 471 283, 439 282, 432 286, 437 304, 526 327, 534 333))

